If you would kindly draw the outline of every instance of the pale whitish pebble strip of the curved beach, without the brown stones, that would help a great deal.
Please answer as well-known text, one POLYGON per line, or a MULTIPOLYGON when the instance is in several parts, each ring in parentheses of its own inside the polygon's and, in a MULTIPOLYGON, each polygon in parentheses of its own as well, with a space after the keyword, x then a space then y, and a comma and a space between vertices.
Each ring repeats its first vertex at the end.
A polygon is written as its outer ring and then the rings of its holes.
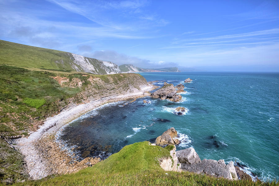
MULTIPOLYGON (((100 97, 91 100, 85 104, 73 104, 69 105, 67 109, 64 109, 59 114, 46 119, 44 124, 40 128, 29 135, 27 138, 20 138, 14 140, 15 147, 20 150, 24 155, 24 161, 26 162, 27 172, 32 179, 41 179, 48 175, 51 175, 50 164, 48 161, 40 156, 40 152, 36 146, 36 142, 43 138, 49 137, 51 134, 56 133, 62 126, 73 121, 74 119, 82 116, 83 114, 91 111, 92 109, 103 105, 108 102, 116 102, 120 100, 134 99, 137 97, 145 97, 150 95, 148 91, 153 90, 156 86, 152 84, 146 84, 139 86, 139 89, 132 88, 127 90, 126 93, 119 93, 117 95, 111 95, 106 97, 100 97)), ((47 148, 47 147, 46 147, 47 148)), ((52 169, 51 169, 52 170, 52 169)))

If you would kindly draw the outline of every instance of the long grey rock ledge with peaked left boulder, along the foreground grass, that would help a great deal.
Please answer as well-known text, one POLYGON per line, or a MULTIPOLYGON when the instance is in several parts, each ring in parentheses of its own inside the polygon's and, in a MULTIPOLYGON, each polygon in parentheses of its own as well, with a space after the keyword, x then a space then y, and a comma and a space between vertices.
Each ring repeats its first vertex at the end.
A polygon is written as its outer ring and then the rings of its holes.
POLYGON ((184 149, 182 152, 177 152, 178 160, 182 161, 181 169, 184 171, 195 172, 197 174, 206 174, 217 178, 226 178, 237 180, 237 173, 233 166, 233 162, 227 165, 224 160, 200 160, 197 153, 193 149, 184 149))

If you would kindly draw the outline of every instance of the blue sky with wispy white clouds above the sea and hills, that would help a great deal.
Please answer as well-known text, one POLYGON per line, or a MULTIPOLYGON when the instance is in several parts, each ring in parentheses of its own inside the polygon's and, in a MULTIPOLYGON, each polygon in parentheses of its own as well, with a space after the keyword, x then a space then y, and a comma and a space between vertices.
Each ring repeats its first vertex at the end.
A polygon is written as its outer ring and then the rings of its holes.
POLYGON ((141 68, 279 71, 279 1, 1 0, 0 39, 141 68))

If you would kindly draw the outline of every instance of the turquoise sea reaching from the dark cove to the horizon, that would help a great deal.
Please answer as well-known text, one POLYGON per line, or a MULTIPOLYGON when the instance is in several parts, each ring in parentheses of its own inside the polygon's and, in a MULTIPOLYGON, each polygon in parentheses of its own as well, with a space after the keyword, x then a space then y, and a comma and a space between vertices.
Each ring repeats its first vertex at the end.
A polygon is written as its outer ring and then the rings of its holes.
POLYGON ((125 145, 153 141, 174 127, 182 140, 178 150, 193 147, 201 159, 234 161, 259 179, 278 180, 279 73, 141 75, 147 81, 159 80, 157 86, 165 81, 182 83, 187 91, 181 94, 183 101, 146 97, 133 103, 106 104, 65 126, 57 140, 67 144, 64 148, 76 147, 73 153, 79 158, 105 158, 125 145), (193 82, 184 83, 186 78, 193 82), (187 112, 177 115, 174 111, 178 106, 187 112))

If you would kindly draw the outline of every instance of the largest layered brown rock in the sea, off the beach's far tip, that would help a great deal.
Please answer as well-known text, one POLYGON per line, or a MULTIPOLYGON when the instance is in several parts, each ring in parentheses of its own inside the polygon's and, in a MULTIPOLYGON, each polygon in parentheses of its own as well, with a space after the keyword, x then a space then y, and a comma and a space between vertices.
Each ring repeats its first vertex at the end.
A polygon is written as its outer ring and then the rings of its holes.
POLYGON ((173 84, 166 83, 162 88, 153 92, 151 95, 153 98, 160 98, 161 100, 170 100, 174 102, 178 102, 181 100, 181 95, 176 94, 176 90, 173 84))

